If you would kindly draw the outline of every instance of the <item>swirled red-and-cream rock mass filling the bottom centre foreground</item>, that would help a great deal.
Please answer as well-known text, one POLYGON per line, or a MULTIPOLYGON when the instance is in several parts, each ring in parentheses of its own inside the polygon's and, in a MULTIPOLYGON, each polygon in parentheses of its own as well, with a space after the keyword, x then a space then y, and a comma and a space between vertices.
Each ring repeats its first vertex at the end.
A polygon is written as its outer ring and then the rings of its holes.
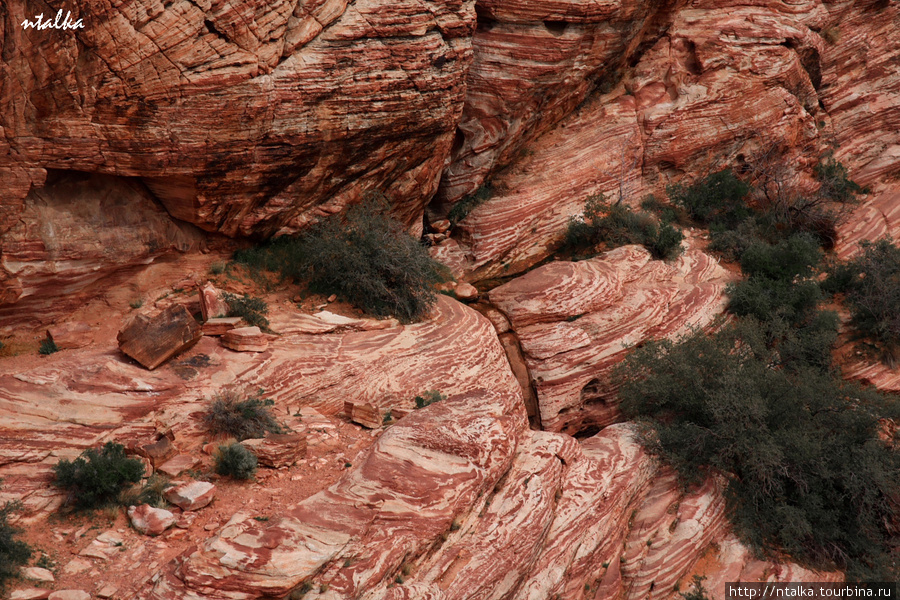
POLYGON ((718 483, 680 492, 631 425, 579 444, 522 428, 504 405, 479 390, 410 415, 331 488, 267 526, 235 515, 142 597, 258 598, 308 581, 322 600, 663 599, 708 572, 707 551, 729 573, 840 580, 754 561, 728 534, 718 483))

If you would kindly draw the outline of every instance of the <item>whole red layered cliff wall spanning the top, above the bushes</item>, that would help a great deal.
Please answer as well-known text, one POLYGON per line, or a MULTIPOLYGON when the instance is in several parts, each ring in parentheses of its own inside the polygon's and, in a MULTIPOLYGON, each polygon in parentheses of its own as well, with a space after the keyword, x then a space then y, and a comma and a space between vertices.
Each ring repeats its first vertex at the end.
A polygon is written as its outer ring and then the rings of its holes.
POLYGON ((893 2, 147 1, 84 7, 77 33, 21 27, 57 4, 0 9, 5 304, 58 294, 29 281, 67 268, 28 207, 71 202, 52 186, 67 171, 229 236, 296 231, 373 189, 420 231, 426 204, 442 217, 490 183, 436 250, 481 279, 546 257, 590 194, 636 202, 760 162, 808 191, 836 149, 877 202, 900 161, 893 2))

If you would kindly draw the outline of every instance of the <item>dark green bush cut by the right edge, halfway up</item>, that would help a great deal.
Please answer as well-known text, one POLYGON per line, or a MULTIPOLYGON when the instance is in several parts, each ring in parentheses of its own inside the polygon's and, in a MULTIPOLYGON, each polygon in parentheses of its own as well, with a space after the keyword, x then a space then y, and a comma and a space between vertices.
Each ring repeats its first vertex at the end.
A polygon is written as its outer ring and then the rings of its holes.
POLYGON ((846 294, 853 325, 894 362, 900 355, 900 248, 890 240, 862 242, 862 252, 831 268, 827 291, 846 294))

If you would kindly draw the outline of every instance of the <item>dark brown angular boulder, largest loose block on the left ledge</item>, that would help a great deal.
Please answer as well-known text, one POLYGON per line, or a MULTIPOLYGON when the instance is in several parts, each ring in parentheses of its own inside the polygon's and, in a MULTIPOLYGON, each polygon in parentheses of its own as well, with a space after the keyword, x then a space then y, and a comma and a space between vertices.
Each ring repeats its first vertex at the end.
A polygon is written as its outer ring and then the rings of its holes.
POLYGON ((203 337, 200 324, 188 310, 176 304, 155 317, 137 315, 119 332, 119 349, 150 370, 203 337))

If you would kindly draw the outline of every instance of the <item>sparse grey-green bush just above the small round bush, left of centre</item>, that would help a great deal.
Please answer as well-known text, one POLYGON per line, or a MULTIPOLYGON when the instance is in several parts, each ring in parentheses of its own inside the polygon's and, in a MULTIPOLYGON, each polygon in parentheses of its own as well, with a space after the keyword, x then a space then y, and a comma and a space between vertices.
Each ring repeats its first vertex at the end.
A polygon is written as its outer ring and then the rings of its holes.
POLYGON ((263 393, 263 390, 257 390, 248 395, 239 389, 217 393, 203 415, 203 424, 213 435, 233 437, 238 441, 265 437, 267 433, 283 433, 269 410, 274 402, 263 398, 263 393))

